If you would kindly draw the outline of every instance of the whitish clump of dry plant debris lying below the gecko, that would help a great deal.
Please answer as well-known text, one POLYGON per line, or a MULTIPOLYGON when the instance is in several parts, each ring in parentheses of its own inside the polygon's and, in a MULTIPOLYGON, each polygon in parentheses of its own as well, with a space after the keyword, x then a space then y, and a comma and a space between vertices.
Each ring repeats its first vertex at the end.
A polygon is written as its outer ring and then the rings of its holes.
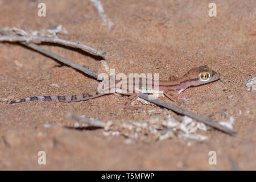
POLYGON ((86 129, 94 127, 101 128, 102 133, 106 136, 125 137, 124 142, 127 144, 142 142, 151 142, 165 140, 175 137, 188 138, 197 141, 208 139, 207 136, 196 134, 197 130, 207 131, 204 123, 193 121, 187 116, 182 117, 179 122, 170 114, 153 115, 144 121, 100 121, 97 118, 86 118, 84 115, 79 116, 75 113, 68 113, 67 117, 73 118, 76 122, 71 122, 69 128, 86 129), (164 117, 164 118, 163 118, 164 117))

